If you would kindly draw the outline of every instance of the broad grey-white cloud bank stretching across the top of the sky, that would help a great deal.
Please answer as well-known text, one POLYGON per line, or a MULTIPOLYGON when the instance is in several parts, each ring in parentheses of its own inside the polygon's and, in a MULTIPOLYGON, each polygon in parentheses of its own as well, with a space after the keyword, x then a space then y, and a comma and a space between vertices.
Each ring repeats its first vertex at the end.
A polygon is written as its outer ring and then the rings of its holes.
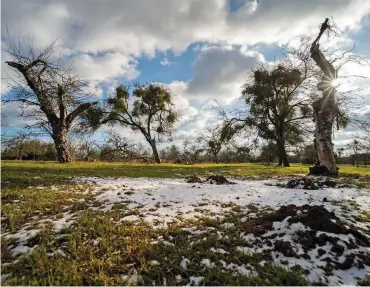
POLYGON ((245 1, 229 12, 229 1, 120 1, 109 5, 85 1, 2 1, 2 22, 16 30, 27 27, 37 42, 63 36, 63 46, 78 51, 119 50, 153 55, 156 50, 184 50, 204 41, 248 45, 287 42, 296 35, 317 33, 327 15, 342 29, 359 29, 370 12, 366 0, 245 1), (361 7, 361 8, 360 8, 361 7))

